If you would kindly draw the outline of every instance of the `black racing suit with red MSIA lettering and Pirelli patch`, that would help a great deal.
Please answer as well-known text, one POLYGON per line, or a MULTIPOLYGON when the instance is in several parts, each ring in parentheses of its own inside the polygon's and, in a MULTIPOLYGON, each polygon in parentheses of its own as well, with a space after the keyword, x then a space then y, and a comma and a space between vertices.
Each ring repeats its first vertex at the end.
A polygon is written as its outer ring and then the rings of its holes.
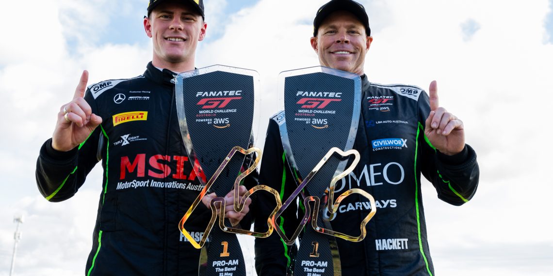
MULTIPOLYGON (((178 229, 203 188, 188 160, 175 108, 174 76, 150 62, 143 75, 88 87, 103 122, 69 152, 40 150, 36 181, 49 201, 71 198, 98 162, 104 171, 86 275, 197 275, 200 250, 178 229), (102 139, 100 137, 102 136, 102 139)), ((248 177, 251 188, 257 181, 248 177)), ((230 191, 229 191, 230 192, 230 191)), ((224 195, 221 195, 224 196, 224 195)), ((196 241, 211 211, 200 204, 186 229, 196 241)), ((250 219, 242 220, 249 229, 250 219)))

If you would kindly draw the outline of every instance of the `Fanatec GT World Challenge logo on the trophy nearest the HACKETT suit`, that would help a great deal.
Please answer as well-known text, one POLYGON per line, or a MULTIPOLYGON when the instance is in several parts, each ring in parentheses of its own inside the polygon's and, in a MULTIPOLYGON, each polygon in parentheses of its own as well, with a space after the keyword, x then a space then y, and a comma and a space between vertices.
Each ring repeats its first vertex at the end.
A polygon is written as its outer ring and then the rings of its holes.
POLYGON ((301 105, 298 112, 295 114, 294 120, 304 121, 310 124, 315 129, 328 128, 328 120, 315 117, 316 114, 336 114, 336 110, 330 110, 332 102, 340 102, 342 99, 341 92, 314 92, 314 91, 298 91, 296 97, 300 97, 296 104, 301 105), (307 118, 301 118, 307 117, 307 118))

